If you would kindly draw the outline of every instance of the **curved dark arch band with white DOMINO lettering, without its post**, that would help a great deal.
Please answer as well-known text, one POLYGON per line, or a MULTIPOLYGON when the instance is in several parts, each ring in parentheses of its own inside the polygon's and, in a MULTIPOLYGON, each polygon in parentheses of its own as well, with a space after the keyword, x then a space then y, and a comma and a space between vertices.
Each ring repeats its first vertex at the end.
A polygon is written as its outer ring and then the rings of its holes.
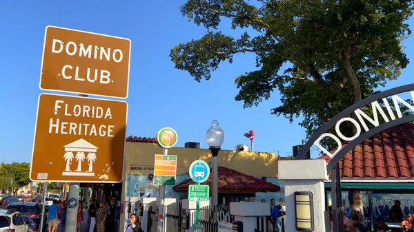
POLYGON ((414 121, 414 105, 407 103, 397 95, 405 92, 409 92, 411 94, 411 100, 414 102, 414 84, 409 84, 395 87, 393 89, 388 89, 384 92, 380 92, 373 96, 369 96, 368 98, 364 98, 362 101, 351 105, 351 107, 348 107, 344 111, 340 112, 327 123, 325 123, 321 128, 319 128, 299 150, 299 154, 297 154, 295 158, 304 158, 306 152, 311 149, 312 145, 315 145, 321 149, 324 154, 327 154, 329 157, 331 157, 332 160, 326 167, 327 171, 330 172, 335 167, 335 165, 337 165, 339 160, 341 160, 346 155, 346 153, 351 151, 351 149, 359 145, 359 143, 362 143, 367 138, 370 138, 371 136, 384 131, 384 129, 388 129, 402 123, 414 121), (380 101, 384 104, 386 110, 381 107, 380 101), (393 104, 393 108, 391 107, 390 103, 393 104), (366 107, 368 105, 371 105, 373 118, 365 114, 361 109, 362 107, 366 107), (403 116, 400 105, 404 105, 410 109, 413 114, 403 116), (357 116, 358 120, 351 118, 352 113, 357 116), (385 121, 385 123, 380 124, 380 117, 385 121), (346 137, 342 131, 340 131, 340 125, 346 121, 352 123, 356 127, 356 134, 352 137, 346 137), (374 127, 371 129, 368 128, 366 121, 371 123, 371 126, 374 127), (327 131, 333 127, 335 127, 336 133, 328 133, 327 131), (322 147, 322 145, 320 145, 320 141, 324 138, 331 138, 337 144, 337 149, 333 153, 326 150, 324 147, 322 147), (346 141, 346 145, 342 146, 342 140, 346 141))

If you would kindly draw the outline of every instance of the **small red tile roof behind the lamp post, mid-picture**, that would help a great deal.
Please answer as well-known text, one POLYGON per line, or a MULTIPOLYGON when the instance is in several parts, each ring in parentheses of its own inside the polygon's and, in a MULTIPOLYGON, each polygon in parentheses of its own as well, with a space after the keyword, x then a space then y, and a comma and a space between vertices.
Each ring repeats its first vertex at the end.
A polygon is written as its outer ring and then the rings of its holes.
MULTIPOLYGON (((248 176, 239 171, 228 169, 227 167, 218 167, 218 179, 219 193, 257 193, 257 192, 277 192, 280 191, 280 187, 270 182, 260 180, 254 176, 248 176)), ((203 184, 208 184, 211 191, 211 178, 210 176, 203 184)), ((172 187, 174 191, 188 191, 188 185, 195 184, 193 180, 186 180, 181 184, 172 187)))

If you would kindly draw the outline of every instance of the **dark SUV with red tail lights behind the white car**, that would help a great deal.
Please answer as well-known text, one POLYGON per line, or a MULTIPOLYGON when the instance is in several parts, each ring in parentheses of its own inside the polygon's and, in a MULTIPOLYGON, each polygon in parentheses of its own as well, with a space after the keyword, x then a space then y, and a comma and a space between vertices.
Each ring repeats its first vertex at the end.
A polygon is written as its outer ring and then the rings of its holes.
MULTIPOLYGON (((40 231, 41 204, 35 202, 12 202, 6 208, 8 212, 19 212, 28 222, 30 231, 40 231)), ((43 231, 46 229, 46 213, 43 215, 43 231)))

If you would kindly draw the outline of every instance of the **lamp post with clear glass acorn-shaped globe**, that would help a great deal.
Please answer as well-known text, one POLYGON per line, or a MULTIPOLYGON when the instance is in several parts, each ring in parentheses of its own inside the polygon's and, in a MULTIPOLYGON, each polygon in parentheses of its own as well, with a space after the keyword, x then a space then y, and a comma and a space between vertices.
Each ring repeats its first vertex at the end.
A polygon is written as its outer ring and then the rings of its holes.
POLYGON ((221 149, 221 145, 224 141, 224 131, 219 127, 219 122, 217 120, 213 120, 211 122, 211 127, 208 128, 206 131, 206 142, 208 144, 208 149, 211 151, 211 155, 213 156, 213 194, 212 194, 212 202, 213 205, 218 205, 218 160, 217 155, 219 154, 219 150, 221 149))

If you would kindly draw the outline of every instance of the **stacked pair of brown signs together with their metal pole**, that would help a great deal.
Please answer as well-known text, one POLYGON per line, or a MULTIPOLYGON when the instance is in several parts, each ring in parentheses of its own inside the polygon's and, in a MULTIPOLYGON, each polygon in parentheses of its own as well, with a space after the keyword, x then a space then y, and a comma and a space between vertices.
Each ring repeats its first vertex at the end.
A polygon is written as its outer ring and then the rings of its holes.
POLYGON ((128 97, 130 47, 126 38, 46 27, 39 87, 79 96, 39 96, 29 176, 72 182, 66 232, 76 231, 79 182, 124 178, 128 104, 86 97, 128 97))

